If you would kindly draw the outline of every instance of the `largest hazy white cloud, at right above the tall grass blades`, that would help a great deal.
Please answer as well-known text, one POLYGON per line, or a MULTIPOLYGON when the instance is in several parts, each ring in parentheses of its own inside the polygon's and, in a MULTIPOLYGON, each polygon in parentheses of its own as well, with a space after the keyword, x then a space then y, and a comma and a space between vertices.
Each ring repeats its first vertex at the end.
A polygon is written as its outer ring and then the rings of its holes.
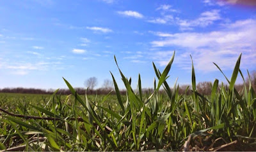
MULTIPOLYGON (((212 62, 216 62, 221 69, 233 69, 237 57, 241 52, 241 68, 249 68, 256 65, 256 20, 238 20, 232 24, 225 24, 221 31, 212 32, 180 32, 180 33, 163 33, 154 32, 161 37, 159 41, 152 41, 154 47, 177 48, 176 62, 183 69, 191 68, 189 55, 193 56, 196 69, 201 71, 218 70, 212 62)), ((158 62, 161 66, 168 63, 168 59, 163 54, 154 53, 151 55, 159 57, 158 62)))

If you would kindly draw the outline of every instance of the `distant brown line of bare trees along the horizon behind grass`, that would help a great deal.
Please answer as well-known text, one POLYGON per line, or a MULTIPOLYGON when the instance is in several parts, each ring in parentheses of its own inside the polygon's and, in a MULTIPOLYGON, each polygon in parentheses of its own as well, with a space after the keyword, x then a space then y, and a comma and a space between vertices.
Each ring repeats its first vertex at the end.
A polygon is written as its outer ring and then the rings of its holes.
MULTIPOLYGON (((256 71, 253 71, 250 74, 250 79, 251 79, 251 85, 253 87, 253 89, 256 92, 256 71)), ((249 78, 245 79, 245 84, 246 87, 249 87, 249 78)), ((105 79, 104 83, 102 84, 102 86, 100 88, 95 89, 95 86, 97 86, 98 81, 97 78, 95 77, 91 77, 86 79, 86 81, 84 81, 84 88, 75 88, 76 92, 78 94, 85 94, 87 93, 88 95, 92 95, 92 94, 98 94, 98 95, 106 95, 109 92, 112 91, 113 94, 115 94, 115 87, 113 85, 113 81, 109 80, 109 79, 105 79)), ((221 84, 220 84, 221 86, 221 84)), ((225 85, 228 89, 228 85, 225 85)), ((196 85, 196 90, 198 93, 203 94, 203 95, 211 95, 211 88, 212 88, 212 82, 210 81, 204 81, 204 82, 199 82, 196 85)), ((220 88, 220 87, 219 87, 220 88)), ((243 91, 244 85, 243 84, 236 84, 235 88, 238 92, 243 91)), ((180 85, 179 86, 179 94, 191 94, 192 92, 191 90, 191 85, 180 85), (186 90, 188 90, 186 92, 186 90)), ((1 93, 35 93, 35 94, 52 94, 55 90, 49 89, 49 90, 44 90, 44 89, 38 89, 38 88, 3 88, 0 89, 1 93)), ((154 92, 153 88, 142 88, 142 93, 144 94, 149 94, 154 92)), ((164 92, 164 90, 160 90, 160 92, 164 92)), ((58 94, 63 94, 63 95, 69 95, 71 94, 70 90, 68 89, 64 89, 61 88, 58 92, 58 94)), ((120 89, 120 93, 122 95, 126 94, 126 90, 125 89, 120 89)))

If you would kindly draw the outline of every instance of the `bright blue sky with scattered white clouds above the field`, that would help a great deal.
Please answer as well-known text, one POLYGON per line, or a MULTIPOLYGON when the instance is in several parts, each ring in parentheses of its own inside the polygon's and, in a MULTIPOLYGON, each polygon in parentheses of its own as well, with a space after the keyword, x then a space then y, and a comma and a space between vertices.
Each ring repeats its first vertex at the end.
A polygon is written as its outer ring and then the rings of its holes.
MULTIPOLYGON (((244 3, 243 3, 244 2, 244 3)), ((115 64, 136 88, 153 87, 156 74, 175 59, 170 86, 224 83, 239 54, 241 71, 256 69, 256 5, 214 0, 24 0, 0 1, 0 88, 67 88, 95 76, 97 88, 111 73, 124 88, 115 64)), ((237 82, 242 82, 241 77, 237 82)))

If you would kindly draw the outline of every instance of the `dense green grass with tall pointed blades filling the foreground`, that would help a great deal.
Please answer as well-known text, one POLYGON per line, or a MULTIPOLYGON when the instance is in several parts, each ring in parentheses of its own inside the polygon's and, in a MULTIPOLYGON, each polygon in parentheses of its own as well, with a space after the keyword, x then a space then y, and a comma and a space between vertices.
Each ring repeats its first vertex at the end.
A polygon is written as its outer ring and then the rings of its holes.
MULTIPOLYGON (((239 70, 239 55, 228 86, 215 79, 211 96, 196 91, 195 69, 192 61, 192 95, 179 95, 179 85, 171 89, 166 79, 172 67, 172 59, 163 73, 153 62, 156 79, 154 92, 141 93, 141 78, 138 88, 132 90, 131 78, 126 78, 118 64, 122 81, 127 90, 120 95, 115 77, 116 98, 111 92, 104 97, 78 95, 64 79, 72 95, 61 97, 54 92, 51 98, 15 100, 2 98, 1 109, 19 113, 23 118, 0 115, 0 149, 25 151, 142 151, 142 150, 181 150, 184 142, 191 137, 191 146, 201 150, 214 150, 214 141, 222 137, 225 142, 239 141, 252 145, 256 140, 256 94, 251 84, 243 92, 234 88, 239 70), (165 93, 159 93, 163 86, 165 93), (109 102, 109 100, 111 102, 109 102), (51 117, 53 120, 34 120, 26 116, 51 117), (82 120, 82 121, 81 121, 82 120), (203 140, 204 139, 204 140, 203 140), (213 144, 212 144, 213 142, 213 144), (201 146, 201 148, 200 148, 201 146), (205 147, 204 147, 205 146, 205 147)), ((192 60, 192 58, 191 58, 192 60)), ((250 78, 250 74, 248 73, 250 78)), ((188 142, 189 143, 189 142, 188 142)), ((215 149, 216 150, 216 149, 215 149)))

